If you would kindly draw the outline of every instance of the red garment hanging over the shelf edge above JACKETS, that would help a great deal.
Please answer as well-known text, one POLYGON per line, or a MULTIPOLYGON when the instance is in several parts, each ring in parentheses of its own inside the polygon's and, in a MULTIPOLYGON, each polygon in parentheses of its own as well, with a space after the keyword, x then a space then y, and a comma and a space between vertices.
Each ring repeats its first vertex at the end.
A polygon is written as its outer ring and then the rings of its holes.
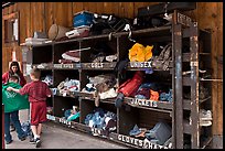
POLYGON ((143 72, 137 71, 131 79, 127 79, 121 86, 119 86, 118 93, 122 93, 126 97, 135 97, 142 82, 143 72))

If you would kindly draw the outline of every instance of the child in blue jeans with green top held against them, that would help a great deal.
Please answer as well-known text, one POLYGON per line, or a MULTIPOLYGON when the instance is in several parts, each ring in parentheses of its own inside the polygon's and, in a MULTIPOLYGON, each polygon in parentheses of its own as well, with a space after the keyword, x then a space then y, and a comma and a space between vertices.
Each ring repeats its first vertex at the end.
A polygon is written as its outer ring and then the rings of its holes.
POLYGON ((7 144, 12 142, 12 136, 10 134, 10 119, 15 127, 18 138, 25 140, 25 133, 21 128, 19 119, 19 110, 29 109, 28 96, 21 96, 15 93, 7 91, 8 87, 21 88, 19 85, 19 77, 12 75, 9 77, 9 82, 2 85, 2 104, 4 105, 4 140, 7 144))

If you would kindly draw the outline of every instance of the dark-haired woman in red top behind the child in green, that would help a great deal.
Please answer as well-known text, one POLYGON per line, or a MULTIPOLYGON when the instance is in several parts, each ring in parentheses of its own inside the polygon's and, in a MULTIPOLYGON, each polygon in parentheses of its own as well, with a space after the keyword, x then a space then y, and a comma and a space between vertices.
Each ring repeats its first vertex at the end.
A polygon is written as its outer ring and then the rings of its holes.
POLYGON ((19 77, 19 83, 21 86, 24 86, 26 84, 26 80, 25 80, 23 74, 21 73, 19 63, 15 61, 10 64, 9 72, 7 72, 2 75, 2 84, 8 83, 9 77, 11 77, 12 75, 17 75, 19 77))

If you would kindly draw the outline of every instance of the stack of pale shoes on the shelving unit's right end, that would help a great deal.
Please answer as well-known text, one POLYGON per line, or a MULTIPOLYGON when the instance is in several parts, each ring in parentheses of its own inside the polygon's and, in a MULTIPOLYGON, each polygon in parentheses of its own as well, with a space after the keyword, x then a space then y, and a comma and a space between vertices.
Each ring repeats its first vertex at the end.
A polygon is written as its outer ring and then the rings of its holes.
POLYGON ((211 110, 200 109, 200 126, 212 126, 212 112, 211 110))

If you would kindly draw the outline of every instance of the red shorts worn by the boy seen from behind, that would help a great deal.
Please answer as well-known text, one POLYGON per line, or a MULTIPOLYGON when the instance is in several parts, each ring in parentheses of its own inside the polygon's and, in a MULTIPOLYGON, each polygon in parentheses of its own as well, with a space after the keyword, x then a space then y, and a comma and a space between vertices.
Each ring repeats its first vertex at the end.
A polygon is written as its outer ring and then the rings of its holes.
POLYGON ((31 126, 38 126, 45 122, 46 118, 46 101, 34 101, 30 104, 31 126))

